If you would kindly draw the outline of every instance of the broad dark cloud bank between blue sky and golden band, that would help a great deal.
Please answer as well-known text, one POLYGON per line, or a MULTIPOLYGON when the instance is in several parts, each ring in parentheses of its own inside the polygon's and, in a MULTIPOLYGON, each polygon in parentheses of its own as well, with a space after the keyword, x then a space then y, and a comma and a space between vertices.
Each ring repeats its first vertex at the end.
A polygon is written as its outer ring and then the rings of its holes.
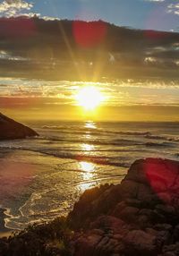
POLYGON ((179 33, 75 22, 1 18, 1 73, 54 80, 179 79, 179 33))

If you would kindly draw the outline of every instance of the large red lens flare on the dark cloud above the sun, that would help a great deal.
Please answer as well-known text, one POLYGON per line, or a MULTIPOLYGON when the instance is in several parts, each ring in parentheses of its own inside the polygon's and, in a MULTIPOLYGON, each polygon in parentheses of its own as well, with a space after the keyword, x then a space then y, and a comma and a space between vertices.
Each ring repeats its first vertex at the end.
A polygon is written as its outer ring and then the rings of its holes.
POLYGON ((80 47, 98 47, 107 35, 107 23, 104 21, 74 21, 73 36, 80 47))

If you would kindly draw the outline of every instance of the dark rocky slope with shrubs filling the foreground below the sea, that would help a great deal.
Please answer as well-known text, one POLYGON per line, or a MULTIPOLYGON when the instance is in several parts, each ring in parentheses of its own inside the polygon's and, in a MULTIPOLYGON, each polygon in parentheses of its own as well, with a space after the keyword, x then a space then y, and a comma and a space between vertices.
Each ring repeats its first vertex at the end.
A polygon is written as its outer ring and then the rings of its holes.
POLYGON ((179 255, 179 162, 135 161, 122 183, 84 192, 67 218, 1 239, 0 255, 179 255))

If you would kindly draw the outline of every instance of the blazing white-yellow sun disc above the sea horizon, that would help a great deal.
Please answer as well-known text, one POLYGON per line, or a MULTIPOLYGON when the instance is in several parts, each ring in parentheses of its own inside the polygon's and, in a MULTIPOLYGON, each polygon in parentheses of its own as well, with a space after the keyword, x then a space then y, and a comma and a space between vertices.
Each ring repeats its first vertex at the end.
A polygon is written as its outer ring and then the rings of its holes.
POLYGON ((78 105, 87 111, 94 110, 104 100, 101 92, 95 86, 83 87, 79 90, 75 98, 78 105))

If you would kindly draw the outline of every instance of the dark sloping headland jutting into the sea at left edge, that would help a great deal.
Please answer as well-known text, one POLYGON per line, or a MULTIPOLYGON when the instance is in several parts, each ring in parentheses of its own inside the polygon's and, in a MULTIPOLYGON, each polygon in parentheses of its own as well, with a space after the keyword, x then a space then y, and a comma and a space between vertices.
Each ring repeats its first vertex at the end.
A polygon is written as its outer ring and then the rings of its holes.
POLYGON ((38 136, 38 133, 0 113, 0 140, 25 139, 33 136, 38 136))

